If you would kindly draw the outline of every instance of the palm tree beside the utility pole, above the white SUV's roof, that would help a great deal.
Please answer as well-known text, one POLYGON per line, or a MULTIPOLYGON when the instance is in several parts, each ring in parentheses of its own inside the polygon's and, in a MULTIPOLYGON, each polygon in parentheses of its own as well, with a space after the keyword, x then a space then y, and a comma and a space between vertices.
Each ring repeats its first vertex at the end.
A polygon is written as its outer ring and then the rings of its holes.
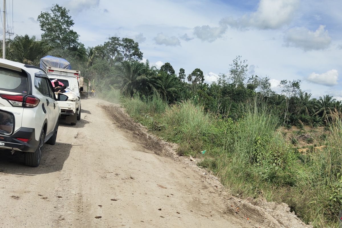
POLYGON ((16 36, 10 41, 10 60, 38 66, 40 59, 47 55, 53 48, 47 42, 37 40, 35 36, 16 36))

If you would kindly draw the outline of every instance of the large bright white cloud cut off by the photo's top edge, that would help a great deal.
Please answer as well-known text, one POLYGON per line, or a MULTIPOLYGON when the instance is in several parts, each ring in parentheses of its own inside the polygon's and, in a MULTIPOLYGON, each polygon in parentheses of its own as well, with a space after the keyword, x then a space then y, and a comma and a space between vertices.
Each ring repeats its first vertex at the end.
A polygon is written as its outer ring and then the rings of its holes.
POLYGON ((260 0, 256 12, 238 19, 227 17, 221 22, 236 28, 277 29, 292 21, 298 7, 299 0, 260 0))

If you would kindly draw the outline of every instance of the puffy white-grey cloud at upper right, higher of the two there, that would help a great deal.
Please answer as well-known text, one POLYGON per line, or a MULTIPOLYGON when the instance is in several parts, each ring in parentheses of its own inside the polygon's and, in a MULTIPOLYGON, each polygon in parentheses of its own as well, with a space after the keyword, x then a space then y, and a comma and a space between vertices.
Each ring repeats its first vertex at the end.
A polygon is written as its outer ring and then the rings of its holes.
POLYGON ((330 45, 331 37, 324 25, 320 25, 316 31, 297 27, 287 31, 285 41, 288 46, 294 46, 304 51, 323 50, 330 45))

